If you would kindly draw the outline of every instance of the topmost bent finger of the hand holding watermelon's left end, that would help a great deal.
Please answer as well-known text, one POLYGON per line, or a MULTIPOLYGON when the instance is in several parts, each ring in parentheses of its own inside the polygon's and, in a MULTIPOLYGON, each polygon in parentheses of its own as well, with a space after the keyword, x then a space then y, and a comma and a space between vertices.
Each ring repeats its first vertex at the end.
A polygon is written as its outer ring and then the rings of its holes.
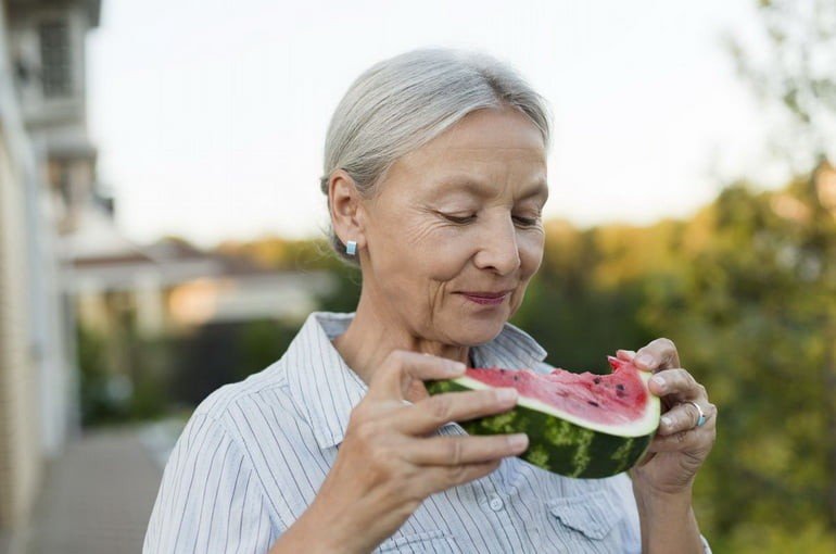
POLYGON ((415 380, 452 379, 464 375, 465 369, 460 362, 395 350, 371 377, 368 395, 401 400, 415 380))

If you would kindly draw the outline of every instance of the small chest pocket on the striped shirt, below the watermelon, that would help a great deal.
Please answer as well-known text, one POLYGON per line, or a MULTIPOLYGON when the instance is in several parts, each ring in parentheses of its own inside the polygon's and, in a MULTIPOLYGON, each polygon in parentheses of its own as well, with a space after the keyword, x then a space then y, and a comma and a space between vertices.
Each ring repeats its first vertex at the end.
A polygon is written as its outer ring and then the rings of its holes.
POLYGON ((623 552, 617 529, 623 518, 621 507, 604 491, 546 502, 547 529, 556 534, 555 543, 566 544, 569 552, 585 552, 584 545, 595 552, 623 552))

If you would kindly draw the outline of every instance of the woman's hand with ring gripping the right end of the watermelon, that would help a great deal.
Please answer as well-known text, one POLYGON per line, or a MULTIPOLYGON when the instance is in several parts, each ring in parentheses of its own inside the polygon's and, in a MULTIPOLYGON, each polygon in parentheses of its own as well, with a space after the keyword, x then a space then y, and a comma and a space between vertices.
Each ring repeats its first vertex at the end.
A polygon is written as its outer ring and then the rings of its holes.
POLYGON ((653 372, 650 392, 661 398, 662 418, 644 459, 631 470, 633 486, 648 493, 689 493, 694 477, 717 437, 717 406, 706 388, 681 367, 676 347, 657 339, 635 354, 620 350, 618 357, 638 369, 653 372), (705 424, 697 427, 702 408, 705 424))

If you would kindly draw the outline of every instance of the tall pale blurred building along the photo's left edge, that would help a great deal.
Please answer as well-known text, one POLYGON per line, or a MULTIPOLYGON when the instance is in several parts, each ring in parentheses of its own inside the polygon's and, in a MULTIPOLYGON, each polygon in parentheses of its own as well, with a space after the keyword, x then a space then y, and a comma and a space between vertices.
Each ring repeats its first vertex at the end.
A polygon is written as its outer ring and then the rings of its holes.
POLYGON ((0 552, 15 549, 43 462, 78 430, 56 249, 76 200, 96 188, 85 36, 99 10, 100 0, 0 0, 0 552))

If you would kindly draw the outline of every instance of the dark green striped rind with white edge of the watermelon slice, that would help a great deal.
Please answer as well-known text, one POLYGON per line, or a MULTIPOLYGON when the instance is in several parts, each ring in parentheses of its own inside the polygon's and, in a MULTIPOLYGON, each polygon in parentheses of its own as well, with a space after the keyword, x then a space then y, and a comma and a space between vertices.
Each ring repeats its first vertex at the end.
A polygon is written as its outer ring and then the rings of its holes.
MULTIPOLYGON (((639 375, 645 383, 650 378, 647 372, 639 375)), ((469 377, 427 382, 431 394, 486 388, 491 386, 469 377)), ((522 459, 567 477, 600 479, 626 471, 642 459, 659 427, 660 410, 659 398, 648 391, 639 420, 600 425, 520 396, 508 412, 457 423, 470 435, 524 432, 529 448, 519 455, 522 459)))

